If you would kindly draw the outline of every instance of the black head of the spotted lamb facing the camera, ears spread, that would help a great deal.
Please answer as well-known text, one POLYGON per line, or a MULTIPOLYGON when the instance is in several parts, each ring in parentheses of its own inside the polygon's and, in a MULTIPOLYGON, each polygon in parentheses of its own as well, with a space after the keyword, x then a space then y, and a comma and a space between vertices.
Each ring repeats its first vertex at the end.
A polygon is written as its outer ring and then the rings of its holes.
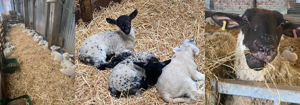
POLYGON ((130 15, 121 15, 118 19, 106 18, 106 21, 110 24, 117 25, 122 32, 126 35, 130 33, 131 30, 131 20, 137 16, 137 10, 134 10, 130 15))

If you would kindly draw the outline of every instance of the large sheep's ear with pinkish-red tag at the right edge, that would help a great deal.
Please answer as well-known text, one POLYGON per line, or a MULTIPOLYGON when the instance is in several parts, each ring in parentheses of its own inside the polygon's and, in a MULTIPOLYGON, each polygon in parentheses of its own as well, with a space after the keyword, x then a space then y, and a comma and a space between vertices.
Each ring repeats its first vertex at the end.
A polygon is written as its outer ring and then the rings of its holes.
POLYGON ((287 22, 283 26, 283 34, 294 38, 293 30, 295 29, 297 37, 300 37, 300 24, 295 24, 292 22, 287 22))

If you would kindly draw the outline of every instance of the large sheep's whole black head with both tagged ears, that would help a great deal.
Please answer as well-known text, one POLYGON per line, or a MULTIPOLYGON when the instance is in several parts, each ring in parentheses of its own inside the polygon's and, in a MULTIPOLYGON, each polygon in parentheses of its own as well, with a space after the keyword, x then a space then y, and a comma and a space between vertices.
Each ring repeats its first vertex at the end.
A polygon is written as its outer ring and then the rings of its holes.
POLYGON ((251 8, 243 15, 214 13, 211 18, 219 26, 223 26, 223 21, 226 21, 226 29, 241 30, 238 47, 240 50, 250 50, 244 56, 247 65, 254 70, 262 70, 266 62, 274 60, 282 34, 294 37, 293 29, 300 32, 300 25, 286 23, 283 15, 274 10, 251 8))

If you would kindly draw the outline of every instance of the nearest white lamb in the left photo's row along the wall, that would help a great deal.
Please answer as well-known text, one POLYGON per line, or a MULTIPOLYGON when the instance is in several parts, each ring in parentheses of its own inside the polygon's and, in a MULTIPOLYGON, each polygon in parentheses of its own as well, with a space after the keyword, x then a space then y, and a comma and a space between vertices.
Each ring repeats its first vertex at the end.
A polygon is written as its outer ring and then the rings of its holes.
POLYGON ((70 55, 69 53, 62 54, 63 61, 61 61, 60 65, 62 66, 62 69, 59 71, 70 78, 75 78, 75 67, 73 67, 73 63, 70 61, 70 57, 73 55, 70 55))

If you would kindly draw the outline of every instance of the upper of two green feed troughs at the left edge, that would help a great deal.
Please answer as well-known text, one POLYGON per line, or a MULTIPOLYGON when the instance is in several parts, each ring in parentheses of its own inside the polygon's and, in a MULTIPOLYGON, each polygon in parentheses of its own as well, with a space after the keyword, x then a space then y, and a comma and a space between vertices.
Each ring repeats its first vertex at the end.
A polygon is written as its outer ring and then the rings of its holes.
POLYGON ((3 73, 14 73, 18 67, 18 62, 17 62, 17 59, 16 58, 5 58, 4 56, 1 56, 1 65, 2 65, 2 72, 3 73), (7 67, 6 65, 7 64, 10 64, 10 63, 14 63, 15 66, 10 66, 10 67, 7 67))

